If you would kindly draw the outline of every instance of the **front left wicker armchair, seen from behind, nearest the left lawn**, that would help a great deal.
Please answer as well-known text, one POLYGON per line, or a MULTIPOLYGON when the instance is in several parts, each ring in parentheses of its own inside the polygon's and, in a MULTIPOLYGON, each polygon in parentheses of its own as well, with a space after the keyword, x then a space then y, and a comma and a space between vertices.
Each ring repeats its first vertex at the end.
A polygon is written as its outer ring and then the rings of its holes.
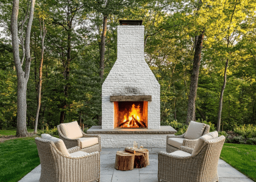
MULTIPOLYGON (((72 157, 63 155, 53 141, 37 137, 35 143, 41 163, 40 182, 100 181, 99 152, 72 157)), ((68 149, 68 152, 74 153, 79 150, 79 147, 73 147, 68 149)))

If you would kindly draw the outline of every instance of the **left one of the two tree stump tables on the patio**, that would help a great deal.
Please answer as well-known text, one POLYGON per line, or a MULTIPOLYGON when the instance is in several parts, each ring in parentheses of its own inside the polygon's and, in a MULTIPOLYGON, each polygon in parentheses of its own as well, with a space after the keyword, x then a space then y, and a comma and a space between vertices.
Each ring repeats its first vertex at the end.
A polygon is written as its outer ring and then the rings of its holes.
POLYGON ((135 155, 133 153, 126 151, 116 152, 115 168, 117 170, 133 170, 134 157, 135 155))

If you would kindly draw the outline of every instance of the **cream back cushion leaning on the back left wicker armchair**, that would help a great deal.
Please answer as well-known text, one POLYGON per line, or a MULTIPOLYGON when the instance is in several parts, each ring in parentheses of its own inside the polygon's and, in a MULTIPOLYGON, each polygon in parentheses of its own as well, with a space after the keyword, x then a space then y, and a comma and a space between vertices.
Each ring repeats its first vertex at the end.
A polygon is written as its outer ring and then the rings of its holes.
POLYGON ((77 121, 73 121, 71 123, 62 123, 60 124, 60 129, 66 138, 80 138, 83 137, 83 133, 77 123, 77 121))

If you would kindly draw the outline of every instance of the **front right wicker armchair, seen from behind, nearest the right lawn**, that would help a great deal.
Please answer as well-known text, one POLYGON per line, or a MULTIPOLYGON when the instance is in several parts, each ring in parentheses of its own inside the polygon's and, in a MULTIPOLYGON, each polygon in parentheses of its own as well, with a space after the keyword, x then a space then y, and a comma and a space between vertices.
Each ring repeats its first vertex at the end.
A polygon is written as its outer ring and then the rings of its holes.
POLYGON ((191 149, 184 146, 180 147, 180 149, 185 154, 189 152, 187 155, 178 156, 166 152, 158 153, 158 181, 218 181, 218 160, 224 141, 225 136, 205 141, 201 149, 194 155, 190 154, 191 149))

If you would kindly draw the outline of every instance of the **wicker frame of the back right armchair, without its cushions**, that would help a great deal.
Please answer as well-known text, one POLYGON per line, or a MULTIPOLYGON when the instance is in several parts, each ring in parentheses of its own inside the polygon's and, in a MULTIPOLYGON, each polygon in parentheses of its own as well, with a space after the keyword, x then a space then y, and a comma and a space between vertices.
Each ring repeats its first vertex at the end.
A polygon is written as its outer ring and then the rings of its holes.
MULTIPOLYGON (((210 130, 210 126, 208 124, 206 124, 205 129, 204 129, 204 133, 202 135, 205 135, 207 133, 209 133, 210 130)), ((168 140, 169 138, 184 138, 186 132, 183 133, 182 135, 168 135, 166 136, 166 152, 171 153, 171 152, 175 152, 176 150, 179 150, 179 148, 171 146, 170 144, 168 144, 168 140)), ((191 149, 194 149, 194 146, 196 146, 196 142, 197 142, 198 138, 195 140, 189 140, 184 138, 183 142, 182 142, 182 146, 186 146, 186 147, 190 147, 191 149)))

